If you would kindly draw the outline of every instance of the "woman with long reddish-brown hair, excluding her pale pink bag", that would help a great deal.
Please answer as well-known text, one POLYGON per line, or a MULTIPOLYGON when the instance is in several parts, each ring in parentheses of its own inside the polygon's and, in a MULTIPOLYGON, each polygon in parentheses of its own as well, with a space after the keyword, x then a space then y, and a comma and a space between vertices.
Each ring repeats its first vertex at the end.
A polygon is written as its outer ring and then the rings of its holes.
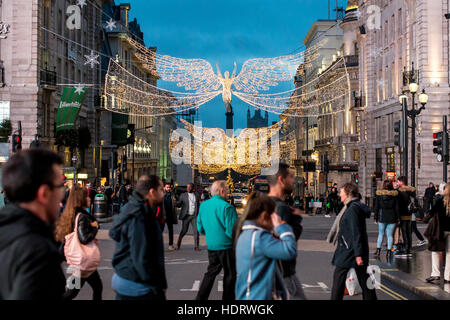
MULTIPOLYGON (((88 190, 79 185, 74 185, 70 191, 64 211, 56 224, 56 241, 64 243, 66 235, 74 232, 77 216, 79 216, 77 233, 80 242, 82 244, 88 244, 95 239, 99 226, 95 217, 86 211, 90 205, 91 199, 89 198, 88 190)), ((66 288, 64 299, 74 299, 78 295, 78 292, 80 292, 83 285, 87 282, 92 287, 93 300, 101 300, 103 284, 98 271, 95 270, 87 277, 83 277, 83 275, 81 276, 82 277, 79 279, 79 282, 76 282, 81 283, 81 287, 73 289, 66 288)))

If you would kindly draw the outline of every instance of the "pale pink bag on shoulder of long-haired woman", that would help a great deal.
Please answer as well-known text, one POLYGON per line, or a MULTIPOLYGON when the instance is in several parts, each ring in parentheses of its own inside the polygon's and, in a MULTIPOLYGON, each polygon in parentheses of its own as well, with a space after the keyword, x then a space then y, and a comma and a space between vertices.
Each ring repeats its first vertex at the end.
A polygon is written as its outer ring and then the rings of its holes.
POLYGON ((98 241, 92 240, 88 244, 82 244, 78 238, 78 219, 75 219, 75 227, 72 233, 66 235, 64 254, 67 264, 72 267, 72 274, 80 272, 81 278, 89 277, 100 265, 100 249, 98 241))

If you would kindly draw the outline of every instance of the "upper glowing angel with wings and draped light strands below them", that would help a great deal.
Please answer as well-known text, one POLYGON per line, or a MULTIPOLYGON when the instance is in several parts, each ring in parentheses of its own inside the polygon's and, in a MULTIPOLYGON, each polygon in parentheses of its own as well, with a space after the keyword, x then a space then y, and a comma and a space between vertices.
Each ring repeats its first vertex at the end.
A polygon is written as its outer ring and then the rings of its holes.
POLYGON ((344 112, 344 100, 350 101, 350 79, 344 58, 334 61, 326 71, 312 77, 301 88, 261 93, 277 86, 280 81, 292 81, 300 66, 311 68, 326 39, 294 55, 247 60, 238 75, 235 63, 232 74, 226 71, 223 76, 218 65, 217 73, 214 73, 206 60, 160 55, 132 38, 127 40, 134 48, 134 57, 148 72, 157 79, 176 82, 185 91, 159 89, 131 74, 118 61, 110 60, 105 83, 105 108, 110 111, 165 116, 199 108, 218 95, 222 95, 228 110, 234 95, 256 109, 274 114, 319 117, 344 112), (328 84, 321 84, 322 79, 326 79, 328 84), (292 101, 296 102, 293 104, 292 101), (335 107, 323 114, 322 106, 329 104, 335 107))

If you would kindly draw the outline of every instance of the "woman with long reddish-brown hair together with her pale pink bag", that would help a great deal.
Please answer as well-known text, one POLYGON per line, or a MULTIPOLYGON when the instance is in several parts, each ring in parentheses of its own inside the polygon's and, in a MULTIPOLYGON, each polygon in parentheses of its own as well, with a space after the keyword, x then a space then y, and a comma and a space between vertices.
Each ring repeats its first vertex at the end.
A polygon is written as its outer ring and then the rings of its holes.
POLYGON ((64 244, 67 264, 75 271, 70 281, 72 285, 66 287, 64 300, 74 299, 86 282, 92 287, 93 300, 102 300, 103 284, 97 270, 100 251, 95 239, 99 225, 86 211, 90 202, 88 191, 74 185, 56 226, 56 241, 64 244))

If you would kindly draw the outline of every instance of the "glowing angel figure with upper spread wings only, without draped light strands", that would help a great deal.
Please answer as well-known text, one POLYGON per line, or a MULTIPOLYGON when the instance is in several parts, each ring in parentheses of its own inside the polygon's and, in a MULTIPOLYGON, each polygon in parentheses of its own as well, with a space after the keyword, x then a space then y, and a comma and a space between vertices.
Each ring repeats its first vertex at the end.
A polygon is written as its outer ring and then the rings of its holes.
POLYGON ((278 86, 280 81, 292 81, 297 67, 301 63, 311 64, 319 57, 317 50, 328 40, 324 39, 316 45, 297 54, 275 58, 257 58, 247 60, 241 72, 226 71, 223 76, 217 65, 217 74, 211 64, 203 59, 181 59, 167 55, 159 55, 144 45, 128 38, 128 42, 136 49, 136 57, 148 70, 157 73, 162 80, 176 82, 178 87, 197 94, 217 92, 227 106, 236 92, 258 94, 270 87, 278 86), (235 90, 232 89, 234 87, 235 90))

